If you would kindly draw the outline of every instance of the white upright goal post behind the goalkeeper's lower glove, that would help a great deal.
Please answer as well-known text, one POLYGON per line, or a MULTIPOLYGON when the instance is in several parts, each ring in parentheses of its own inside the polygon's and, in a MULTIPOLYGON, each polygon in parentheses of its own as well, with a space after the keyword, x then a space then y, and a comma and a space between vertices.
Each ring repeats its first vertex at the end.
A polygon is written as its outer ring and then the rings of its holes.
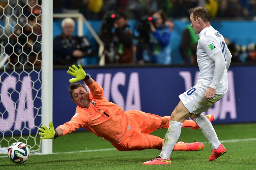
MULTIPOLYGON (((42 124, 52 122, 52 1, 42 0, 42 124)), ((52 153, 52 139, 42 140, 42 154, 52 153)))

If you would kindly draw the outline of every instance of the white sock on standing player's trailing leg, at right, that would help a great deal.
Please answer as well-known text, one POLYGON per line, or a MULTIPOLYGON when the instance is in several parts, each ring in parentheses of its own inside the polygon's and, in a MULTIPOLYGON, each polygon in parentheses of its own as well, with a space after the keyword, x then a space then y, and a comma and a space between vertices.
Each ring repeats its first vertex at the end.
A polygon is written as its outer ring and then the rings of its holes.
POLYGON ((200 114, 197 118, 193 119, 197 125, 202 129, 204 136, 208 139, 210 143, 212 143, 213 149, 218 149, 220 145, 220 141, 218 136, 212 127, 212 123, 208 120, 204 115, 200 114))

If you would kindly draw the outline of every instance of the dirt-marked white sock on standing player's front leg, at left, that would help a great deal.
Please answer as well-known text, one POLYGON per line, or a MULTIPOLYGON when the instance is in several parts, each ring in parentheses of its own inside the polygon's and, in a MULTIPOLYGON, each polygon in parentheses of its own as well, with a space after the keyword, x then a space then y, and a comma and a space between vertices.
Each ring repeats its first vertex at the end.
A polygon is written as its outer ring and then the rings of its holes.
POLYGON ((162 152, 160 153, 160 157, 162 159, 167 159, 170 157, 172 150, 174 148, 175 143, 178 141, 180 137, 182 123, 177 121, 170 121, 170 126, 167 130, 167 133, 164 136, 164 144, 162 148, 162 152))

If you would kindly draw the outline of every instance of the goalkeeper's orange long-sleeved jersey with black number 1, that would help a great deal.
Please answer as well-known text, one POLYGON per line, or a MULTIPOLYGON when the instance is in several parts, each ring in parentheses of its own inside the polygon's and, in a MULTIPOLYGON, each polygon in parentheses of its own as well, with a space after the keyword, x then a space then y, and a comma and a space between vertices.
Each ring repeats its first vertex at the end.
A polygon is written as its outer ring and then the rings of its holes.
POLYGON ((108 141, 118 141, 125 132, 127 115, 121 107, 104 97, 104 90, 96 81, 93 80, 88 88, 91 91, 90 107, 87 109, 77 105, 72 119, 58 128, 62 129, 63 135, 85 128, 108 141))

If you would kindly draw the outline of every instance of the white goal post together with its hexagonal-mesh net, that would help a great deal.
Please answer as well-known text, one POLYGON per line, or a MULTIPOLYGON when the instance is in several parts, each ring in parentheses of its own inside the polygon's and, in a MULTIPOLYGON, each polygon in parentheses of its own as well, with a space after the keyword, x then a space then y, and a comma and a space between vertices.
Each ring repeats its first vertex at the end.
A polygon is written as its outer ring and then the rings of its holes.
POLYGON ((0 154, 14 142, 52 153, 38 135, 52 122, 52 11, 51 0, 0 2, 0 154))

